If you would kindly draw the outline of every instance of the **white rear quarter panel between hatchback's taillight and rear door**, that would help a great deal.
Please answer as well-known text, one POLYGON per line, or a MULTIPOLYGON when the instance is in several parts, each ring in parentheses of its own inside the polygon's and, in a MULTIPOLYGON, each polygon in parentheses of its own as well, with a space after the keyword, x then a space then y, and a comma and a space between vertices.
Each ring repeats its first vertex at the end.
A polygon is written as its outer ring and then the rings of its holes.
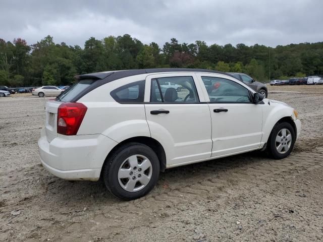
POLYGON ((102 134, 118 143, 137 136, 150 137, 144 104, 118 103, 110 95, 118 87, 145 80, 145 76, 137 75, 104 84, 80 98, 78 102, 88 109, 77 134, 102 134))

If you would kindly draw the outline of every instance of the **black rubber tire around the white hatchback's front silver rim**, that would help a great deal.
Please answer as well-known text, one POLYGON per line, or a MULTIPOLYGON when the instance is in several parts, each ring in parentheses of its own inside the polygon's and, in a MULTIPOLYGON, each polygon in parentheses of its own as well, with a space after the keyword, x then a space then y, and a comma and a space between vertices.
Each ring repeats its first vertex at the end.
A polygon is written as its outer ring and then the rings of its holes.
POLYGON ((292 152, 292 150, 294 148, 294 144, 295 144, 295 130, 291 126, 291 124, 289 124, 287 122, 278 123, 274 126, 272 133, 268 138, 267 152, 274 159, 283 159, 283 158, 289 156, 289 154, 292 152), (289 132, 291 133, 291 136, 292 136, 291 146, 290 146, 289 150, 284 154, 279 153, 278 150, 276 149, 276 137, 282 129, 288 129, 289 132))

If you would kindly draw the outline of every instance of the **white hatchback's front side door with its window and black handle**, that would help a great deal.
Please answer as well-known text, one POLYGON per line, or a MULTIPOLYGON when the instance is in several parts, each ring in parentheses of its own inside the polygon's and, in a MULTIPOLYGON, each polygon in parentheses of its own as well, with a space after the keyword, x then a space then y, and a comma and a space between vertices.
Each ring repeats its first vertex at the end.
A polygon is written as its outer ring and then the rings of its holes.
POLYGON ((203 89, 211 112, 212 157, 259 148, 262 105, 252 102, 250 90, 234 78, 221 74, 196 75, 202 84, 213 86, 203 89))

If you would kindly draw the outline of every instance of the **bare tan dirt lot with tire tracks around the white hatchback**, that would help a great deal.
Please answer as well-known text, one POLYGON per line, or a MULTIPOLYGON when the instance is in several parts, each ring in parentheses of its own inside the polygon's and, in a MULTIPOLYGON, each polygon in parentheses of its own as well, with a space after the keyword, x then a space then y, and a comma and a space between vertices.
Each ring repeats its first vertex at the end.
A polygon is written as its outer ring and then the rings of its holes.
POLYGON ((322 241, 323 85, 270 91, 302 120, 288 158, 253 152, 169 169, 130 202, 45 171, 46 99, 0 98, 0 241, 322 241))

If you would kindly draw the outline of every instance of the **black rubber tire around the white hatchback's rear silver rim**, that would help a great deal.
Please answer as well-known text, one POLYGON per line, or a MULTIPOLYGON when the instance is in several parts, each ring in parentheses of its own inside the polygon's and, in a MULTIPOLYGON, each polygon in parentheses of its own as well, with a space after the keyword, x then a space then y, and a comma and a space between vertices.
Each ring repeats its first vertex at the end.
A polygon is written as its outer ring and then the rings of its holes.
POLYGON ((160 164, 156 153, 148 146, 141 143, 128 143, 119 147, 105 160, 102 178, 106 188, 117 198, 133 200, 145 196, 156 185, 160 171, 160 164), (143 155, 150 160, 152 175, 148 184, 139 191, 129 192, 121 187, 118 180, 118 172, 122 163, 132 155, 143 155))

